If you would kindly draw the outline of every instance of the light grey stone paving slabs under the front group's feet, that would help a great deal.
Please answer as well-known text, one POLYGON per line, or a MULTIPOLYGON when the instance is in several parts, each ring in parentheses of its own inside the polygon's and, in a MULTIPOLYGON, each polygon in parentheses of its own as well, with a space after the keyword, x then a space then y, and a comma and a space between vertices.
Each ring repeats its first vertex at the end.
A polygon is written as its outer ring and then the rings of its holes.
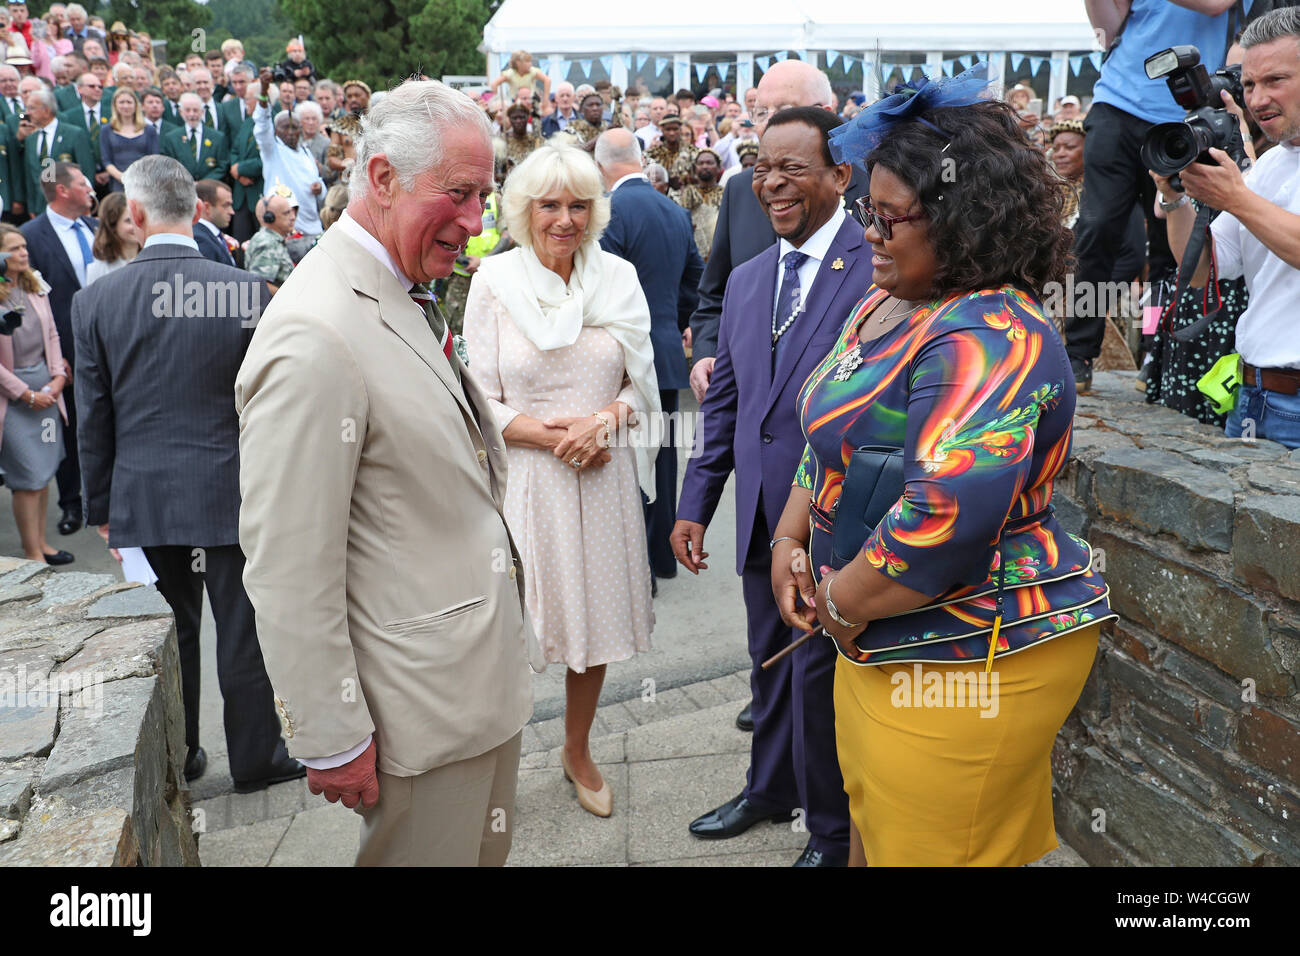
MULTIPOLYGON (((749 763, 736 713, 746 672, 597 711, 592 752, 614 788, 614 816, 586 813, 560 770, 560 718, 524 730, 511 866, 789 866, 807 843, 790 825, 759 823, 731 840, 698 840, 686 823, 731 799, 749 763), (599 736, 597 736, 599 734, 599 736)), ((350 866, 361 818, 302 780, 196 804, 205 866, 350 866)), ((1084 866, 1067 847, 1034 866, 1084 866)))

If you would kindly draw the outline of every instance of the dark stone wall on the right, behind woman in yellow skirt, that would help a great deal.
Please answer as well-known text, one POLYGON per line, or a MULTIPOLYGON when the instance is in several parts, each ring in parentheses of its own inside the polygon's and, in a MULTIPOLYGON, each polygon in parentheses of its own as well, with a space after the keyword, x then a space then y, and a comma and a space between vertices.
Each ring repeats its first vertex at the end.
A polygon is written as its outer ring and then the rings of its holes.
POLYGON ((1057 827, 1095 865, 1300 864, 1300 450, 1080 397, 1053 502, 1121 620, 1053 752, 1057 827))

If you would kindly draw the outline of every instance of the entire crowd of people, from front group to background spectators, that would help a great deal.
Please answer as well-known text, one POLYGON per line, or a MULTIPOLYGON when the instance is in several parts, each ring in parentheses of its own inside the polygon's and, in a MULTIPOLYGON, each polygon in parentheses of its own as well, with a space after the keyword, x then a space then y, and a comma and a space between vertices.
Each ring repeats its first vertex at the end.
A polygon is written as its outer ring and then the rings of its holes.
POLYGON ((529 671, 566 669, 563 773, 608 817, 606 667, 650 649, 662 579, 708 570, 732 483, 750 766, 689 831, 793 814, 798 866, 1032 861, 1115 617, 1052 510, 1110 319, 1050 290, 1173 287, 1217 211, 1186 295, 1238 281, 1232 336, 1170 358, 1199 321, 1175 302, 1149 394, 1197 414, 1190 376, 1235 337, 1227 432, 1300 446, 1300 12, 1238 36, 1119 7, 1088 109, 1048 112, 982 68, 870 103, 793 59, 740 98, 552 85, 525 52, 477 98, 372 95, 300 40, 155 65, 75 4, 44 30, 10 4, 0 466, 23 550, 73 559, 46 540, 56 473, 60 532, 138 549, 177 617, 188 779, 207 588, 237 790, 306 775, 361 812, 359 864, 499 864, 529 671), (44 75, 49 35, 70 49, 44 75), (1134 165, 1182 113, 1127 74, 1173 40, 1240 62, 1248 177, 1222 151, 1180 182, 1134 165), (923 678, 992 682, 993 713, 923 708, 923 678))

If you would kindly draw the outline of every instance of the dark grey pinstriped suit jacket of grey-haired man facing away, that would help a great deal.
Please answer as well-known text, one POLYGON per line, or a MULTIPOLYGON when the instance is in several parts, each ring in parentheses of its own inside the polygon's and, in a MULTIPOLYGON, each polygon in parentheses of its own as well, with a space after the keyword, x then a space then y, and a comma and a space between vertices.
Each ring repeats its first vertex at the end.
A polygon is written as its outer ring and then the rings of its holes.
POLYGON ((73 299, 86 520, 114 548, 238 544, 235 373, 268 300, 252 273, 173 243, 73 299), (178 282, 204 289, 196 315, 178 282))

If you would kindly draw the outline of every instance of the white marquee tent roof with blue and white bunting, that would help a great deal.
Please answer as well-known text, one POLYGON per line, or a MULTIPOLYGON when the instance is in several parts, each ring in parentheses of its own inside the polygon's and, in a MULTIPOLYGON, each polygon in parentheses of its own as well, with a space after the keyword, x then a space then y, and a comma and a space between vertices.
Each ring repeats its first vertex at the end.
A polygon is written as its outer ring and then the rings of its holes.
POLYGON ((849 85, 858 69, 857 86, 868 92, 881 66, 884 75, 894 66, 904 77, 933 75, 988 59, 994 77, 1023 77, 1053 100, 1067 85, 1091 88, 1100 64, 1078 0, 506 0, 481 49, 493 75, 511 51, 528 49, 555 79, 623 86, 638 77, 676 88, 708 75, 738 94, 757 81, 755 65, 760 72, 786 56, 838 66, 849 85))

